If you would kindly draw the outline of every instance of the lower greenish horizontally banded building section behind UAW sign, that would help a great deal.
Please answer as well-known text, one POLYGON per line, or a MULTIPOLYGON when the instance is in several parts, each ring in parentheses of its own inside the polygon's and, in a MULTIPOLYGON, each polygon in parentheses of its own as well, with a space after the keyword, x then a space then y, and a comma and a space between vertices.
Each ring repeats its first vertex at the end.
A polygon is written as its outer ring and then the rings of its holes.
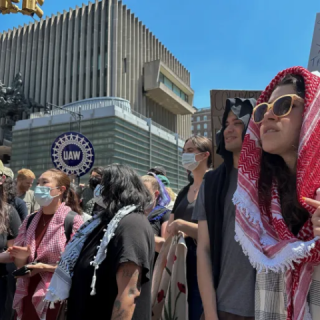
MULTIPOLYGON (((163 166, 172 188, 177 192, 187 184, 187 172, 181 165, 184 140, 151 119, 131 110, 120 98, 92 98, 64 106, 83 118, 81 133, 92 143, 94 166, 126 164, 140 175, 154 166, 163 166)), ((52 168, 51 146, 63 132, 79 132, 78 122, 64 110, 33 113, 13 128, 11 169, 30 168, 37 177, 52 168)), ((87 182, 88 175, 81 178, 87 182)))

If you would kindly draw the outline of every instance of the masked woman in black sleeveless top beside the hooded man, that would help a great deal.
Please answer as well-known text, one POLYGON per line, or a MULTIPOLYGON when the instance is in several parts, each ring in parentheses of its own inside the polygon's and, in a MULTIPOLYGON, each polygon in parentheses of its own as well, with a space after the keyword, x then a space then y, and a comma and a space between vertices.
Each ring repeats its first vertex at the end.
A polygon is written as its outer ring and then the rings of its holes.
POLYGON ((187 252, 187 285, 189 320, 199 320, 203 312, 197 282, 196 240, 197 221, 192 219, 193 208, 205 173, 212 167, 212 141, 193 136, 186 140, 182 154, 183 167, 192 172, 193 180, 177 196, 167 226, 167 236, 185 234, 187 252))

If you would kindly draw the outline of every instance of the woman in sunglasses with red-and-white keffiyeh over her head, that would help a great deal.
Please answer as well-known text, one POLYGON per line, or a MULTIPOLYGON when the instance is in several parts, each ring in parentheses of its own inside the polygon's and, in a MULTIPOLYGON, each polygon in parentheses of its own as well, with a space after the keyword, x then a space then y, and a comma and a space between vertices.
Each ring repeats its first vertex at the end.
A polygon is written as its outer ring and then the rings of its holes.
POLYGON ((261 94, 244 139, 234 195, 236 239, 258 270, 256 320, 320 319, 320 78, 281 71, 261 94))

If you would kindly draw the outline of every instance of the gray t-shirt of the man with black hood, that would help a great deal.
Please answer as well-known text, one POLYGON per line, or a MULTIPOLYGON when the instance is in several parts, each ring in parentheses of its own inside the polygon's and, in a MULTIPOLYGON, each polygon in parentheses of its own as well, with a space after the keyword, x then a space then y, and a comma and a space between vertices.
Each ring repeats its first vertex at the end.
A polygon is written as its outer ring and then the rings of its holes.
MULTIPOLYGON (((235 206, 232 197, 237 188, 238 170, 230 173, 230 184, 225 198, 222 227, 221 273, 217 308, 242 317, 254 317, 254 288, 256 272, 235 237, 235 206)), ((199 190, 193 219, 206 220, 204 183, 199 190)))

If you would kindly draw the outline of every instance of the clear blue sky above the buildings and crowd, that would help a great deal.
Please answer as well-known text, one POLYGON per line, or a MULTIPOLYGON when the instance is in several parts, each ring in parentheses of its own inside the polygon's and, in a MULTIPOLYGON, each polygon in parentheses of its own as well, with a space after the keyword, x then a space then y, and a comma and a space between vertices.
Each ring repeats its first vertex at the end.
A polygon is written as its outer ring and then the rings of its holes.
MULTIPOLYGON (((84 1, 87 3, 87 1, 84 1)), ((194 105, 210 89, 263 89, 274 75, 307 66, 319 0, 124 0, 191 72, 194 105)), ((45 15, 81 5, 45 0, 45 15)), ((0 32, 33 21, 0 15, 0 32)))

